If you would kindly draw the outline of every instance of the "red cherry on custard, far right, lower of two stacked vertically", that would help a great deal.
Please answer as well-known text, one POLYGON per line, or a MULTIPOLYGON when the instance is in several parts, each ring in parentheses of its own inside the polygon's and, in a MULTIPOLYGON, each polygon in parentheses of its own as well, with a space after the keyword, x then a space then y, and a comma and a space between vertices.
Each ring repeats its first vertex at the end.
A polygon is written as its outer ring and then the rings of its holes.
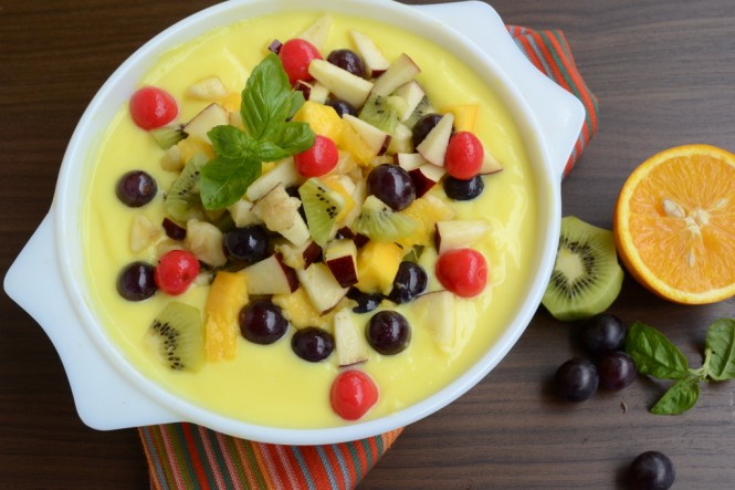
POLYGON ((474 249, 449 250, 437 260, 437 279, 458 296, 476 296, 487 284, 487 262, 474 249))

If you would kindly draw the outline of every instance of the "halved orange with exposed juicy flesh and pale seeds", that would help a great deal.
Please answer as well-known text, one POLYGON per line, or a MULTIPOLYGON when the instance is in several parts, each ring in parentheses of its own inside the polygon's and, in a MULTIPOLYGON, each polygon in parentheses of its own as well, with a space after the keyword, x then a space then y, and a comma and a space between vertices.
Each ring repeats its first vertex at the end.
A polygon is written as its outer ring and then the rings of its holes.
POLYGON ((613 233, 630 274, 660 296, 735 295, 735 155, 683 145, 643 161, 620 191, 613 233))

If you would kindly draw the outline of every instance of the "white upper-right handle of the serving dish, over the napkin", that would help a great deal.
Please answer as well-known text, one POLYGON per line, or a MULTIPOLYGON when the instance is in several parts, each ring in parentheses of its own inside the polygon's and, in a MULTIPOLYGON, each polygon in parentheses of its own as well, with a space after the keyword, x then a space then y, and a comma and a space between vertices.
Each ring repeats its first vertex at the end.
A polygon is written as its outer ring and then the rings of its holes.
POLYGON ((582 103, 528 61, 487 3, 473 0, 416 8, 471 39, 505 72, 528 103, 544 136, 553 171, 561 180, 585 122, 582 103))

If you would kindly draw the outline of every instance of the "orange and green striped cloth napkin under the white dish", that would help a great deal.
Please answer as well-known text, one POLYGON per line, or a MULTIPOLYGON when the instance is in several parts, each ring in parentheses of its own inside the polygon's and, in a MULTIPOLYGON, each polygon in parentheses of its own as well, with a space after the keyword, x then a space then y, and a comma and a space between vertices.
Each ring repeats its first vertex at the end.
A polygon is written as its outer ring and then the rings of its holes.
MULTIPOLYGON (((508 25, 531 62, 576 95, 587 110, 565 175, 597 131, 597 97, 577 71, 564 33, 508 25)), ((140 427, 155 490, 354 489, 403 429, 351 442, 280 446, 225 436, 193 424, 140 427)))

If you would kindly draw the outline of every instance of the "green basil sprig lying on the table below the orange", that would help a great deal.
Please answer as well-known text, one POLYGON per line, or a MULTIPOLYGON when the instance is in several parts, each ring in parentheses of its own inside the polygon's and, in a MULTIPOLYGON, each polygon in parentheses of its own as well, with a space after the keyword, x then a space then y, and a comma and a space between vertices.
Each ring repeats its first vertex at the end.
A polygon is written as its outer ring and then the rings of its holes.
POLYGON ((678 415, 700 398, 701 382, 735 379, 735 319, 720 319, 707 330, 702 367, 692 368, 686 356, 652 326, 636 322, 628 331, 626 352, 640 374, 674 384, 651 407, 657 415, 678 415))

